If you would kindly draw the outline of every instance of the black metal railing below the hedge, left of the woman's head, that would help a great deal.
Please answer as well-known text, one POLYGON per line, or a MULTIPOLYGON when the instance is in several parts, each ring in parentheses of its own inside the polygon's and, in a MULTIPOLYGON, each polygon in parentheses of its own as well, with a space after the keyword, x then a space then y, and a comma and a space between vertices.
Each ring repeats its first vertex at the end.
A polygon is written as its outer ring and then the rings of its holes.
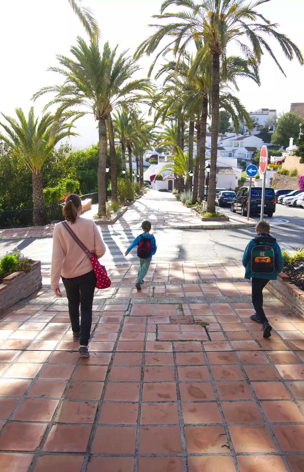
POLYGON ((42 224, 63 221, 62 207, 63 203, 36 210, 0 211, 0 228, 27 228, 40 221, 42 224))

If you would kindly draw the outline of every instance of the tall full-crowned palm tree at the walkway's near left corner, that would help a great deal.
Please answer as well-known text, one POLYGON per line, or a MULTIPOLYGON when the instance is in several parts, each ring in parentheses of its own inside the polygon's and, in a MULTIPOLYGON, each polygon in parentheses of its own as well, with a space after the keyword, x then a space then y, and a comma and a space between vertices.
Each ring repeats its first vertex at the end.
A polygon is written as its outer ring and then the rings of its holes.
POLYGON ((47 105, 59 105, 58 113, 67 117, 79 118, 84 114, 93 114, 98 120, 99 134, 99 166, 98 180, 98 214, 106 211, 105 169, 107 160, 106 119, 112 110, 123 105, 127 106, 136 100, 139 90, 148 90, 146 79, 130 80, 138 70, 134 60, 127 57, 124 51, 116 55, 117 46, 112 50, 106 42, 102 52, 98 43, 89 45, 78 37, 77 46, 71 48, 74 59, 57 55, 61 67, 49 70, 59 72, 65 77, 63 85, 42 88, 34 94, 34 99, 44 93, 55 93, 55 98, 47 105))

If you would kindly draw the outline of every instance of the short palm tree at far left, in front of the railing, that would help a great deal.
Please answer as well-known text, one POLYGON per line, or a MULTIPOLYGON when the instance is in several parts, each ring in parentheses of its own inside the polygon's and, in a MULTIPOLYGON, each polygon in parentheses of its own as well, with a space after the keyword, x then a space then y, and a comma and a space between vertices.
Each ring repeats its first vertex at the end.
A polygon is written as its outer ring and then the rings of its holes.
POLYGON ((38 121, 34 116, 34 107, 30 108, 27 118, 21 108, 16 108, 15 111, 17 119, 1 113, 8 125, 0 123, 7 134, 0 133, 0 139, 7 143, 31 170, 34 224, 45 225, 47 219, 42 191, 42 166, 61 139, 77 134, 71 131, 72 123, 66 123, 64 119, 54 120, 51 113, 45 113, 38 121))

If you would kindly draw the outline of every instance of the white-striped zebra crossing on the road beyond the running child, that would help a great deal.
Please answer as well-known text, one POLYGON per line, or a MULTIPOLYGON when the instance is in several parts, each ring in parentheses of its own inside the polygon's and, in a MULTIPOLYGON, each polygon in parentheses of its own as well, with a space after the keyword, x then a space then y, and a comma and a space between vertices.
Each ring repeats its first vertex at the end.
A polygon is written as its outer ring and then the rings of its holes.
MULTIPOLYGON (((125 256, 127 247, 141 231, 125 229, 124 231, 107 231, 102 233, 102 239, 107 252, 102 261, 107 262, 137 262, 136 247, 125 256)), ((153 230, 156 239, 157 252, 153 261, 171 261, 178 259, 183 231, 179 229, 153 230)))

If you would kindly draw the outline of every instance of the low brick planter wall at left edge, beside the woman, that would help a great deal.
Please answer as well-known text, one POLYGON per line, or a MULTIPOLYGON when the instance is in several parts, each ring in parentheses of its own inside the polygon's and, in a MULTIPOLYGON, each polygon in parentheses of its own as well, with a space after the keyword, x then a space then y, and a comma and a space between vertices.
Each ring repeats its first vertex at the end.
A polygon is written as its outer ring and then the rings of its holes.
POLYGON ((28 274, 13 272, 3 279, 0 284, 0 312, 42 287, 40 261, 35 261, 31 265, 33 269, 28 274))

